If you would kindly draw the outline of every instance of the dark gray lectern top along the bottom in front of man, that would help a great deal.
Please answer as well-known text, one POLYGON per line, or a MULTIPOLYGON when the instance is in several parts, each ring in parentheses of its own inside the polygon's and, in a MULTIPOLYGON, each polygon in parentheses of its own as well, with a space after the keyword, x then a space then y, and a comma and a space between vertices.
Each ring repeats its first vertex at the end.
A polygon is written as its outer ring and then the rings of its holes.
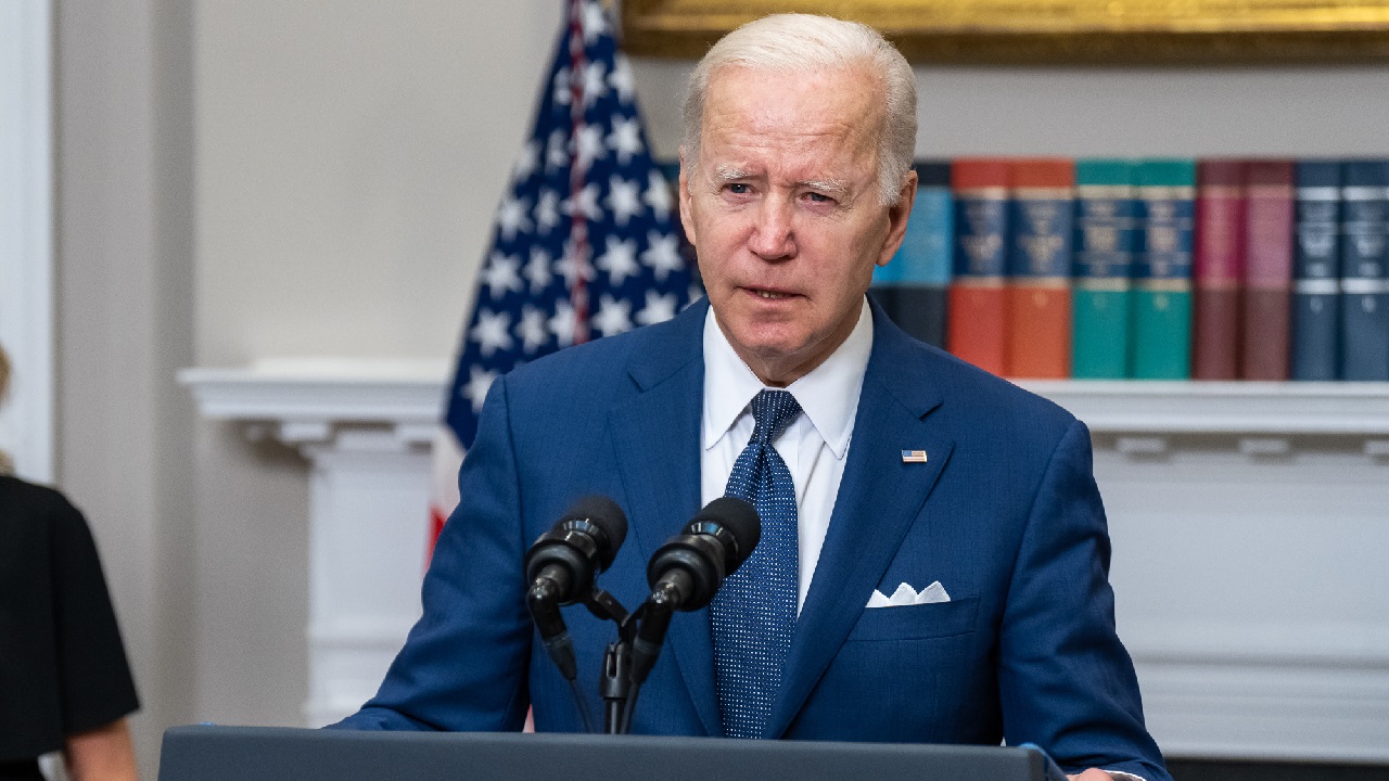
POLYGON ((174 727, 160 781, 1064 781, 1035 748, 174 727))

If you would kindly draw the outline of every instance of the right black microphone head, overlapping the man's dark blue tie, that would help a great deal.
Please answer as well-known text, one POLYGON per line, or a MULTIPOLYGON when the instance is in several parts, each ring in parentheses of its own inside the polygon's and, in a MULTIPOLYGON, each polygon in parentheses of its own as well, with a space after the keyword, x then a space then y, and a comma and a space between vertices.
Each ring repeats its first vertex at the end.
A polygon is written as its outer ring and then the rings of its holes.
POLYGON ((671 610, 699 610, 761 539, 757 510, 742 499, 710 502, 676 536, 656 549, 646 567, 650 602, 671 610))

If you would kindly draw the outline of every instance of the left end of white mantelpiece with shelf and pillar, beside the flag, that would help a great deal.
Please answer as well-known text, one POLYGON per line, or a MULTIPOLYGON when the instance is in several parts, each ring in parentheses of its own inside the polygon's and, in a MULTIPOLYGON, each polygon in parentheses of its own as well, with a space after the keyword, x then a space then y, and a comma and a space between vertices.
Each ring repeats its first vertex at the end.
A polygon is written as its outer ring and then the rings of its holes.
POLYGON ((285 359, 178 375, 204 418, 311 464, 308 727, 369 699, 419 616, 446 374, 446 361, 285 359))

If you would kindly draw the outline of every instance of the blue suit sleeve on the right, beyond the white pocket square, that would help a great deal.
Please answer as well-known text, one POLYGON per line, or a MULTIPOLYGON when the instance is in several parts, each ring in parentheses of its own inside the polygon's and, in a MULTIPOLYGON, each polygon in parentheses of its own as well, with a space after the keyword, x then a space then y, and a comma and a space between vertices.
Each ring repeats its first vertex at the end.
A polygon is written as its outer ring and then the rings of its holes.
POLYGON ((1067 773, 1101 767, 1167 781, 1114 630, 1108 567, 1090 435, 1072 421, 1043 474, 1008 586, 997 663, 1004 735, 1042 746, 1067 773))

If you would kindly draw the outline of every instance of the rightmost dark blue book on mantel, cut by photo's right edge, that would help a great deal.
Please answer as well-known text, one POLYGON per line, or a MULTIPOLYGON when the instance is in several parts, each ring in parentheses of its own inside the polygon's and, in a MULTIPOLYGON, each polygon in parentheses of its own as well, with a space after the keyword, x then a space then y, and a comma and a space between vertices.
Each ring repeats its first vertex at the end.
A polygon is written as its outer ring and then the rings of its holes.
POLYGON ((1353 160, 1340 183, 1340 377, 1389 379, 1389 160, 1353 160))

